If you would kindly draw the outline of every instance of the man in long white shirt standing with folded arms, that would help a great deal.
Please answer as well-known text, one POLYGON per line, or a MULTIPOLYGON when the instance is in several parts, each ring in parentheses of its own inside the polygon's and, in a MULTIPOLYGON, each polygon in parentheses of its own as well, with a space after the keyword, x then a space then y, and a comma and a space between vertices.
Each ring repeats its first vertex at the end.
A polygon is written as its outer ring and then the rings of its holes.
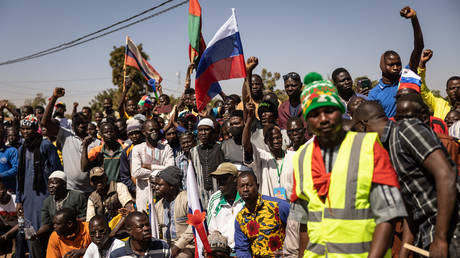
POLYGON ((134 146, 132 150, 131 171, 136 179, 136 206, 139 211, 146 211, 150 191, 149 177, 169 166, 174 166, 171 147, 159 142, 160 126, 156 120, 147 120, 142 133, 145 142, 134 146))

